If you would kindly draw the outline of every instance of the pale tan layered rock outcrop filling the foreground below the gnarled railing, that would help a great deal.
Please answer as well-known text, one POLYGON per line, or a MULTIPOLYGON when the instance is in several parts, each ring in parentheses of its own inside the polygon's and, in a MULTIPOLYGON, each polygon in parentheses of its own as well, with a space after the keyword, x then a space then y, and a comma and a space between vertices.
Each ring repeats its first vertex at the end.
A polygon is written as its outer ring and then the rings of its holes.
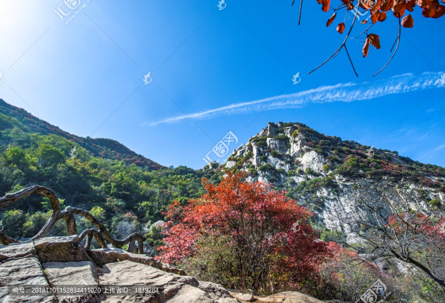
POLYGON ((77 235, 48 237, 0 246, 2 303, 322 303, 298 292, 262 297, 228 292, 221 285, 187 276, 181 269, 144 255, 115 248, 84 250, 77 235), (80 296, 11 296, 7 286, 98 287, 101 293, 80 296), (104 286, 156 285, 158 293, 107 295, 104 286))

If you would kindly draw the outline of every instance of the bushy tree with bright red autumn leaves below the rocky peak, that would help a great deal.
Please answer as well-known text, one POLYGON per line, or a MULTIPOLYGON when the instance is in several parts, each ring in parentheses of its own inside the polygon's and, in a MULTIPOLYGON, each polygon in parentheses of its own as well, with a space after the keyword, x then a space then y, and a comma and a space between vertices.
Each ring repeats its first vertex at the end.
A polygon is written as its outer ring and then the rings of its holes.
POLYGON ((318 240, 308 223, 312 213, 287 199, 284 191, 261 182, 243 183, 239 173, 229 173, 218 186, 203 182, 207 193, 200 199, 185 206, 175 202, 167 211, 167 244, 158 248, 160 260, 187 265, 199 253, 201 237, 223 237, 229 239, 236 263, 231 267, 240 279, 236 286, 258 289, 271 275, 296 287, 329 255, 327 243, 318 240))

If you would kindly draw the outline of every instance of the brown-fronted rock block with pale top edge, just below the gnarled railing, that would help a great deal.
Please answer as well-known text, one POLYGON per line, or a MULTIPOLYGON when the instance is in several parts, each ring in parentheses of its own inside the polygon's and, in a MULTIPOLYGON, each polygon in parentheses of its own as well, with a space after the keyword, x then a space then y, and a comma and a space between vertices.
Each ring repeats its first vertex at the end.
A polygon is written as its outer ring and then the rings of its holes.
POLYGON ((77 235, 37 239, 34 240, 34 247, 42 263, 92 261, 77 235))

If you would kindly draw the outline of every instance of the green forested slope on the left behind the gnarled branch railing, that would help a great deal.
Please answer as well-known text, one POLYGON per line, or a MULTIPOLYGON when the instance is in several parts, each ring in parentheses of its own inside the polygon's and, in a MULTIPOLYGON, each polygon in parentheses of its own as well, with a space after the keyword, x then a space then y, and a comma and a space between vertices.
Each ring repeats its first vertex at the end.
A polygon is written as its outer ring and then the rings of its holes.
MULTIPOLYGON (((91 211, 118 237, 140 231, 148 221, 163 220, 161 213, 175 199, 200 197, 202 178, 211 178, 184 166, 152 169, 91 155, 77 139, 38 134, 35 129, 0 113, 0 196, 31 185, 45 186, 64 206, 91 211), (78 154, 72 157, 75 146, 78 154)), ((0 219, 9 236, 31 237, 49 214, 48 201, 32 195, 3 208, 0 219)), ((88 223, 78 225, 83 229, 88 223)), ((63 234, 64 229, 56 228, 57 232, 63 234)))

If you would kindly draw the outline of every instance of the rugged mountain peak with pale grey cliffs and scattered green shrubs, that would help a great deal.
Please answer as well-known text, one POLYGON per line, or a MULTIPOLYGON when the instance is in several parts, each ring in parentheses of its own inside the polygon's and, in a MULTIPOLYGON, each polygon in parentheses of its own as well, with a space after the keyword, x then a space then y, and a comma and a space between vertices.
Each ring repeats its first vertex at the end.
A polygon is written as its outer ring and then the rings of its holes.
MULTIPOLYGON (((243 171, 250 182, 264 181, 287 190, 314 212, 316 222, 329 229, 341 226, 338 214, 360 216, 352 186, 362 178, 410 175, 413 186, 428 188, 431 199, 444 201, 445 170, 375 150, 354 141, 326 136, 302 123, 268 123, 246 145, 234 151, 223 171, 243 171)), ((344 226, 344 228, 348 228, 344 226)), ((344 230, 347 231, 347 230, 344 230)))

